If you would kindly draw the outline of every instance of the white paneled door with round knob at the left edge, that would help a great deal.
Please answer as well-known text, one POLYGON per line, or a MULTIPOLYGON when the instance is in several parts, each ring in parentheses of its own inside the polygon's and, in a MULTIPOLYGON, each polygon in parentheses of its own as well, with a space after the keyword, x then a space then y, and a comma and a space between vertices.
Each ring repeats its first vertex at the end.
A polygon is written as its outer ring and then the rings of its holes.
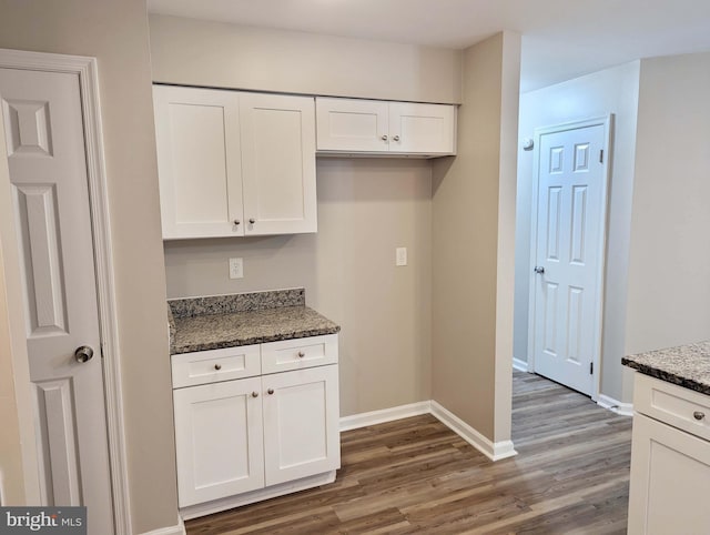
POLYGON ((42 501, 45 505, 85 505, 89 533, 111 534, 79 79, 68 73, 0 69, 0 101, 22 263, 42 501), (83 350, 78 351, 80 347, 83 350))

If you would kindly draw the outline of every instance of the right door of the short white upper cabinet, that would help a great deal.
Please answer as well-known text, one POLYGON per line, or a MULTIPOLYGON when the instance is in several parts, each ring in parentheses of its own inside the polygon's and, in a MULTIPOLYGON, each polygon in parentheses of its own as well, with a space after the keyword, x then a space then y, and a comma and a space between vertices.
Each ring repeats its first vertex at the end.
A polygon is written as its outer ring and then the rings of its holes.
POLYGON ((454 154, 455 107, 389 103, 389 152, 454 154))

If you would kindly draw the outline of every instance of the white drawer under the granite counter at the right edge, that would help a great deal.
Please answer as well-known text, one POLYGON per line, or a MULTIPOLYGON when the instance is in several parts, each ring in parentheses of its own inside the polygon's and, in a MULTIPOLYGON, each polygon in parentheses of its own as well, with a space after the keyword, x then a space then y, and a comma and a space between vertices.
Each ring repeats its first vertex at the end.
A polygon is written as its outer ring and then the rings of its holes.
POLYGON ((639 413, 710 441, 708 395, 637 373, 633 407, 639 413))

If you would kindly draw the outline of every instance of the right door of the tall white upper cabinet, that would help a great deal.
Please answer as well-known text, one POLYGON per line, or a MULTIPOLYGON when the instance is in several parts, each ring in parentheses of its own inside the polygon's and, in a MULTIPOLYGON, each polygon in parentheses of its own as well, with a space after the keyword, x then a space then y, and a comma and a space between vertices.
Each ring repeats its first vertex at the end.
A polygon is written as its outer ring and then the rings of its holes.
POLYGON ((312 97, 240 93, 245 235, 316 232, 312 97))

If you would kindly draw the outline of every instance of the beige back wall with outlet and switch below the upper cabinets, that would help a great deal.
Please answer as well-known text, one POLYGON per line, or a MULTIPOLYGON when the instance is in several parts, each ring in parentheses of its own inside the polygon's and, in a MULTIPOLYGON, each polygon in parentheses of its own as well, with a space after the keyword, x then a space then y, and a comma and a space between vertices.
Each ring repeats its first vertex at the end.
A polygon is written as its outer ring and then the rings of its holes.
POLYGON ((343 416, 429 400, 429 162, 318 159, 317 194, 317 234, 166 242, 169 296, 304 286, 342 326, 343 416), (229 279, 233 256, 244 279, 229 279))

